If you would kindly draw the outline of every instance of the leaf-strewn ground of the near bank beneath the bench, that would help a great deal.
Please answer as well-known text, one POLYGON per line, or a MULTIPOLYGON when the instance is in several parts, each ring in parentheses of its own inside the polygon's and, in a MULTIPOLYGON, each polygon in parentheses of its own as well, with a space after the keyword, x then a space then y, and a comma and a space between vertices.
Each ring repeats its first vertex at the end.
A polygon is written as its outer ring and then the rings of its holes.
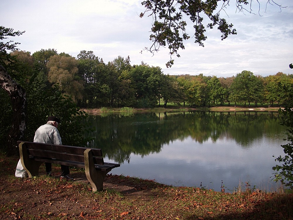
POLYGON ((17 161, 0 155, 0 219, 293 219, 292 192, 214 192, 116 175, 92 192, 80 169, 71 169, 75 182, 59 181, 55 165, 52 177, 41 165, 39 177, 16 178, 17 161))

